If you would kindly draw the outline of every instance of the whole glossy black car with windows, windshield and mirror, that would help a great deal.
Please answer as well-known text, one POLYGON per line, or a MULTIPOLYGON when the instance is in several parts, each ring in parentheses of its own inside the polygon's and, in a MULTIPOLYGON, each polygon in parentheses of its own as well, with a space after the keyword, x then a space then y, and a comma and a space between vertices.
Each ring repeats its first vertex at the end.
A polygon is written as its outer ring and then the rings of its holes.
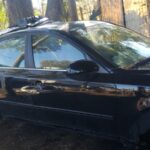
POLYGON ((150 129, 149 45, 100 21, 6 32, 0 37, 1 115, 137 142, 150 129))

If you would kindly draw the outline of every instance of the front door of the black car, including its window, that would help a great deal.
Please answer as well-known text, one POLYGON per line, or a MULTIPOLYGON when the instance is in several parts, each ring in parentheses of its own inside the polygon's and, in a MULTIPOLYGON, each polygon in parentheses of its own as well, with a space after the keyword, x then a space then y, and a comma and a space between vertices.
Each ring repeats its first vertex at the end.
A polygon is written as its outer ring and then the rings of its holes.
MULTIPOLYGON (((115 84, 68 76, 67 68, 78 60, 91 60, 83 48, 57 32, 34 33, 31 95, 38 119, 55 125, 110 134, 114 131, 115 84)), ((102 68, 101 68, 102 69, 102 68)), ((103 70, 104 71, 104 70, 103 70)), ((106 71, 104 71, 108 74, 106 71)))

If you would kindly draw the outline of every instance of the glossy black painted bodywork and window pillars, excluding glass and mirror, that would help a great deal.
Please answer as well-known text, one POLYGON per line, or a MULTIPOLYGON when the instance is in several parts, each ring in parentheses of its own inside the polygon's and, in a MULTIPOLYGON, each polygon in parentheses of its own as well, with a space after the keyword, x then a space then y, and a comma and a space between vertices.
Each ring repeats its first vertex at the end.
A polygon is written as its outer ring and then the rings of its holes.
POLYGON ((26 68, 0 68, 3 116, 128 142, 137 142, 150 129, 150 105, 143 103, 150 101, 150 71, 114 70, 96 52, 64 31, 49 31, 44 27, 19 32, 27 36, 26 68), (31 35, 49 32, 80 47, 100 71, 69 73, 35 69, 31 35))

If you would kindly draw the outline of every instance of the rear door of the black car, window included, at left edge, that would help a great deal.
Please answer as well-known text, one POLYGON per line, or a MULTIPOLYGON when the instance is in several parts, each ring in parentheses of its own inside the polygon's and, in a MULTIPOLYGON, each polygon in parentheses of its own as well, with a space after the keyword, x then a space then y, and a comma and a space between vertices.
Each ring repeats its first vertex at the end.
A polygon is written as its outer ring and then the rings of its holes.
POLYGON ((16 104, 32 104, 31 96, 23 92, 30 84, 27 36, 20 32, 0 39, 0 111, 5 116, 23 112, 21 107, 12 107, 16 104))

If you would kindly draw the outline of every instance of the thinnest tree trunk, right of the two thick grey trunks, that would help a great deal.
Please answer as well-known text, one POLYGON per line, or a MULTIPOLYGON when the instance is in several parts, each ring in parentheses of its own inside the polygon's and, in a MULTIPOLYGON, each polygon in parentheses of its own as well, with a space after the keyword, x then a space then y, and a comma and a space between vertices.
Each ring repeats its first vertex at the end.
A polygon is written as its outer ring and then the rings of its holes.
POLYGON ((71 18, 71 21, 78 20, 76 0, 68 0, 68 6, 69 6, 69 16, 71 18))

